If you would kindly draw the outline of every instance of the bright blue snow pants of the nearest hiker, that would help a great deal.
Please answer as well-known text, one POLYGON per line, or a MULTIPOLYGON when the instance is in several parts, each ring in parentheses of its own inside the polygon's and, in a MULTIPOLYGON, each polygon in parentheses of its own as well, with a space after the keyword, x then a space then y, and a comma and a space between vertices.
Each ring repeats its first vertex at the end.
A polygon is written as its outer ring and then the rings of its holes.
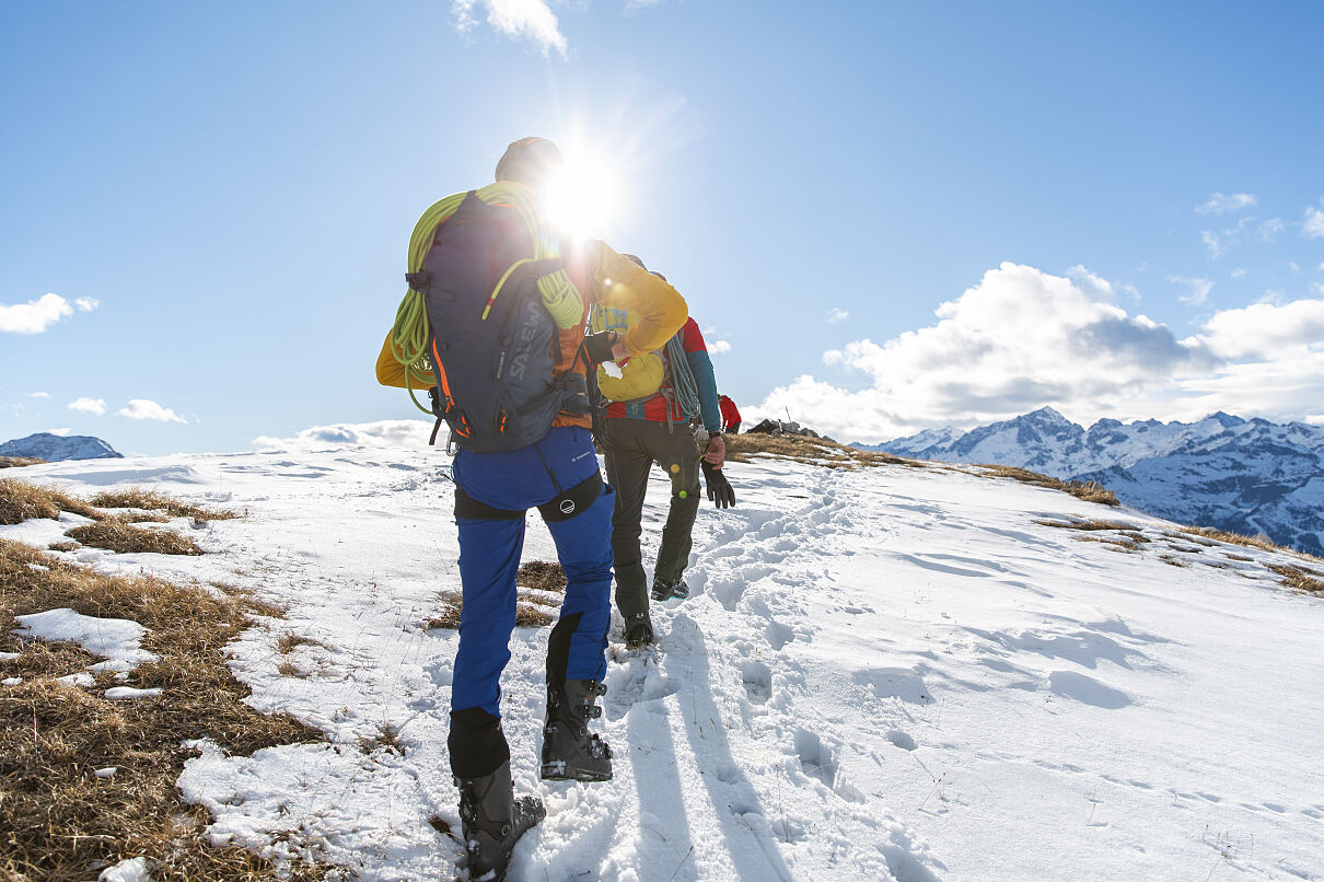
MULTIPOLYGON (((493 509, 524 511, 556 499, 598 473, 588 429, 548 432, 542 441, 508 453, 455 454, 455 485, 493 509)), ((548 520, 565 571, 565 600, 548 638, 547 677, 597 679, 606 675, 610 624, 612 507, 614 491, 564 520, 548 520)), ((515 573, 524 550, 524 518, 455 518, 463 611, 450 710, 481 709, 500 716, 500 674, 510 661, 515 628, 515 573)))

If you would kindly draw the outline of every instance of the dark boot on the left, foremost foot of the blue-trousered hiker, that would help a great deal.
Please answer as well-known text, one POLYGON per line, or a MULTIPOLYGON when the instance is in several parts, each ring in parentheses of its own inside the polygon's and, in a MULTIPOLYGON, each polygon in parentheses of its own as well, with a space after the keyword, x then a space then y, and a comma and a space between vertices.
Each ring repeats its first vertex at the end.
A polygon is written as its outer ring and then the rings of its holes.
POLYGON ((469 878, 473 882, 500 882, 506 878, 515 842, 547 817, 543 800, 515 799, 510 780, 510 760, 495 772, 471 780, 454 779, 459 788, 459 821, 469 852, 469 878))

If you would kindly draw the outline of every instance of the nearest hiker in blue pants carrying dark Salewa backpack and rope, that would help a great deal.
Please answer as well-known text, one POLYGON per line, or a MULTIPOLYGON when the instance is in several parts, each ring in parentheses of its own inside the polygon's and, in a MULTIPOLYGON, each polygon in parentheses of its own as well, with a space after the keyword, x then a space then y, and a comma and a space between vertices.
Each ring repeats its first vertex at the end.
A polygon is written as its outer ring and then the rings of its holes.
POLYGON ((547 646, 542 777, 612 777, 612 752, 588 726, 606 693, 614 491, 597 467, 585 373, 663 346, 688 314, 665 281, 545 221, 543 193, 560 168, 555 144, 523 138, 496 164, 495 183, 424 212, 409 244, 409 291, 377 358, 384 385, 432 387, 437 429, 448 424, 459 448, 463 609, 448 750, 469 878, 483 882, 506 875, 515 842, 545 816, 540 800, 514 797, 500 726, 531 507, 547 522, 568 580, 547 646), (624 334, 585 336, 593 306, 639 320, 624 334))

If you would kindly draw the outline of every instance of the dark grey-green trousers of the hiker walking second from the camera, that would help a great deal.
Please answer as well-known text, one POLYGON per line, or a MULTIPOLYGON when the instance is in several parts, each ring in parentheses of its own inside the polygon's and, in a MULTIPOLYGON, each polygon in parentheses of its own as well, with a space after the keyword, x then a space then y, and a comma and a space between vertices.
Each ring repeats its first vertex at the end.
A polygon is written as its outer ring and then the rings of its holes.
POLYGON ((639 551, 643 497, 657 462, 671 479, 671 510, 662 530, 654 576, 677 581, 690 563, 690 531, 699 511, 699 445, 686 425, 650 420, 605 420, 602 448, 606 481, 616 487, 612 555, 616 559, 616 608, 622 616, 649 611, 649 584, 639 551), (682 495, 685 494, 685 495, 682 495))

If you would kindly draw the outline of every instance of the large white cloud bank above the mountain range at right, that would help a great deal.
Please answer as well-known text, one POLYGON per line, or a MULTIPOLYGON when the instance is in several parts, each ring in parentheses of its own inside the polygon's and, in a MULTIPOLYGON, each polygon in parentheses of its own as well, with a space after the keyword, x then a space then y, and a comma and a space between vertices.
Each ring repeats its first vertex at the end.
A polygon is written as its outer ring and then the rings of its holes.
POLYGON ((1225 310, 1200 334, 1177 339, 1102 291, 1002 264, 943 303, 936 323, 824 355, 829 366, 865 375, 866 388, 805 375, 751 409, 789 409, 833 437, 880 441, 1046 404, 1092 422, 1194 420, 1218 409, 1300 418, 1324 400, 1324 298, 1225 310))

